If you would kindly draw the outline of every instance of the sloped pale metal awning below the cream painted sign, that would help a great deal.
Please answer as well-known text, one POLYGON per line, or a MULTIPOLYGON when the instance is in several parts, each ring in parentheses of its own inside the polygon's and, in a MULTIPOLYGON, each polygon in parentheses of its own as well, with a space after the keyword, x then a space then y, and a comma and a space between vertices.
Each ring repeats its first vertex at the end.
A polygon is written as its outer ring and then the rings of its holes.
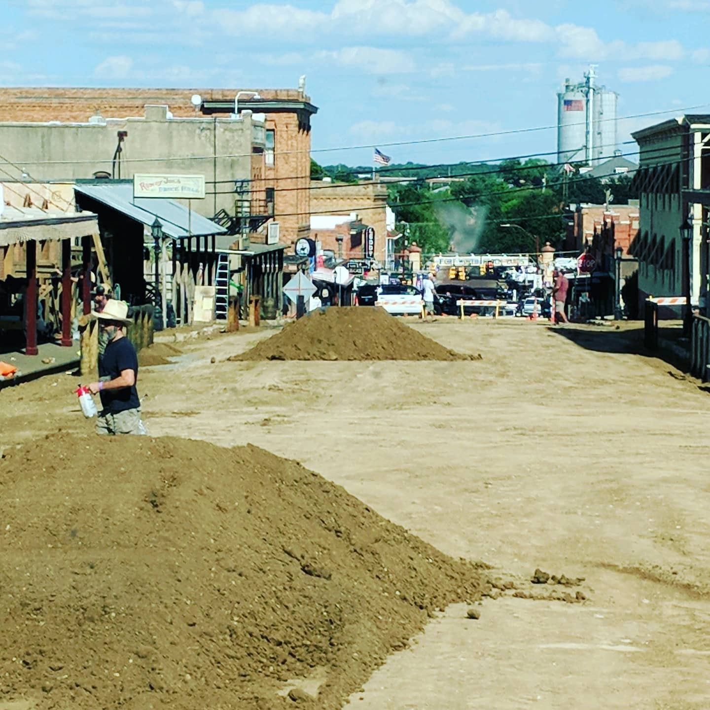
POLYGON ((226 229, 211 219, 202 217, 195 210, 188 211, 185 205, 175 200, 133 197, 133 182, 107 182, 106 184, 77 183, 75 192, 101 202, 126 217, 151 226, 155 217, 163 224, 163 234, 173 239, 187 239, 189 236, 212 236, 224 234, 226 229))

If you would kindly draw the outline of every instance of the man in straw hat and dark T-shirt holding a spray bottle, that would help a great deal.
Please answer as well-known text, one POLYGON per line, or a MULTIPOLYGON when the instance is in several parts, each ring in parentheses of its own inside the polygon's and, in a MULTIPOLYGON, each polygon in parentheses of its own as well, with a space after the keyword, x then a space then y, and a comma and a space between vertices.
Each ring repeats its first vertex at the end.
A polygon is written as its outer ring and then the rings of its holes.
POLYGON ((124 330, 131 320, 126 317, 128 304, 111 299, 104 310, 94 313, 107 339, 99 361, 99 381, 92 382, 92 394, 101 396, 102 411, 97 419, 97 434, 145 434, 138 399, 138 357, 124 330))

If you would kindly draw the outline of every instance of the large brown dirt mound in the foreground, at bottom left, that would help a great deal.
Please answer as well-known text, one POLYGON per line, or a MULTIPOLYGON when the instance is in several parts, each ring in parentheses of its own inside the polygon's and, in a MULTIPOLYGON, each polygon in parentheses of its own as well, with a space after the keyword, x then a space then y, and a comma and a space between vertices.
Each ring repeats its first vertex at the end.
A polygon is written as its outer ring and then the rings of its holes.
POLYGON ((59 434, 0 486, 0 706, 332 710, 483 584, 256 447, 59 434))

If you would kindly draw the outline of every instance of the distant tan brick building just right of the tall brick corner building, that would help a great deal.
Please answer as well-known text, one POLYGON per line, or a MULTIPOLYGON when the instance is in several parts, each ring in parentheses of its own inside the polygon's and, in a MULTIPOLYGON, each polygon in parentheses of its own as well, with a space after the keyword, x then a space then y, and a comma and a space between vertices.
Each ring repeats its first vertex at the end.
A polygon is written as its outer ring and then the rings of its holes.
MULTIPOLYGON (((322 182, 312 180, 311 214, 352 214, 375 229, 375 258, 383 263, 387 247, 387 187, 380 182, 322 182)), ((356 248, 353 249, 356 251, 356 248)))

